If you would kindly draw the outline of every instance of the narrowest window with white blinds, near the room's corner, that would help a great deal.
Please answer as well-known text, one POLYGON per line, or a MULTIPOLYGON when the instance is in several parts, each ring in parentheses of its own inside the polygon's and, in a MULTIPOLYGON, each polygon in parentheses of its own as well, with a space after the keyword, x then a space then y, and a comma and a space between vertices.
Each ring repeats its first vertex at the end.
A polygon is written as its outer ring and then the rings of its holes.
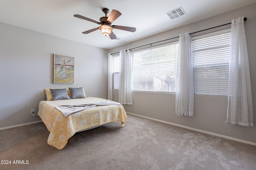
POLYGON ((112 57, 113 70, 112 70, 112 87, 118 89, 119 84, 119 56, 112 57))

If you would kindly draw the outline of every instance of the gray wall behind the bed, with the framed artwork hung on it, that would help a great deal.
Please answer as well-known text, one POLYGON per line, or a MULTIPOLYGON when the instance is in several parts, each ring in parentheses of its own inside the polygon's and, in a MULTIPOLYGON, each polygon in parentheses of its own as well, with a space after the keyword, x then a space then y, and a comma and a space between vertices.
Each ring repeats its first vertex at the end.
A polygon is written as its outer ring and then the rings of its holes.
MULTIPOLYGON (((0 128, 40 120, 30 114, 45 88, 84 87, 107 98, 107 50, 0 22, 0 128), (75 57, 75 83, 53 84, 53 54, 75 57)), ((82 36, 82 35, 81 35, 82 36)))

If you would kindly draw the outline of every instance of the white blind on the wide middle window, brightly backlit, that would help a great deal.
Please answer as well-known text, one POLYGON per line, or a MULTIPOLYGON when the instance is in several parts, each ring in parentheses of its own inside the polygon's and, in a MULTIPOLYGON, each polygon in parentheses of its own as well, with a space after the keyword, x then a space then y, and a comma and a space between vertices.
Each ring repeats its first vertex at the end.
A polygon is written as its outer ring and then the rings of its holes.
POLYGON ((132 53, 132 90, 175 92, 178 43, 132 53))

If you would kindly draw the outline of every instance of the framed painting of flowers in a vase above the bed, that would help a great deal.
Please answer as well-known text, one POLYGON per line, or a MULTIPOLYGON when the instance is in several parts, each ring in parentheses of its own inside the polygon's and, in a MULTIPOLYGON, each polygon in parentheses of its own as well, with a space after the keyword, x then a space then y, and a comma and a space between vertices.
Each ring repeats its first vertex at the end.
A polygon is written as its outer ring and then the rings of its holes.
POLYGON ((53 83, 74 83, 75 58, 54 54, 53 83))

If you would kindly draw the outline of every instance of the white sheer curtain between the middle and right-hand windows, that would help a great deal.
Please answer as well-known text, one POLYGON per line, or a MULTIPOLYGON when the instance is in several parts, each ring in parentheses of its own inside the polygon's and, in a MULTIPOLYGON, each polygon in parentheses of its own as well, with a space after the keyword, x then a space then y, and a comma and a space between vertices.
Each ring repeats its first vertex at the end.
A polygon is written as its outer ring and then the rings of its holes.
POLYGON ((191 36, 188 32, 180 34, 178 68, 176 76, 176 114, 193 116, 194 87, 191 36))

